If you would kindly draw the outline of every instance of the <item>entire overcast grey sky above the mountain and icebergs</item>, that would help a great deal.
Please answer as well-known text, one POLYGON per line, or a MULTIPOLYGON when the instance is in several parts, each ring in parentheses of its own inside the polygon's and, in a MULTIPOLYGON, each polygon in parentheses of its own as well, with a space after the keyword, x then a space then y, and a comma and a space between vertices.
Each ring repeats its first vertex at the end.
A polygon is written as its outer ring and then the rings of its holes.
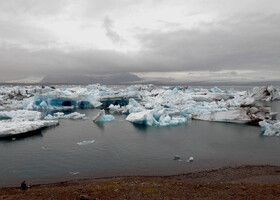
POLYGON ((280 80, 279 0, 0 0, 0 82, 280 80))

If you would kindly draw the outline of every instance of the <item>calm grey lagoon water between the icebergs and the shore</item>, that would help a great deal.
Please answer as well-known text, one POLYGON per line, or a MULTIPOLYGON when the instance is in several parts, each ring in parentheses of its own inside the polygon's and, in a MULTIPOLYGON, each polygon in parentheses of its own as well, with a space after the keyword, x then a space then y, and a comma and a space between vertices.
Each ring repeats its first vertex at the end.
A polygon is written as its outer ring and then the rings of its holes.
MULTIPOLYGON (((280 112, 280 102, 268 103, 280 112)), ((240 164, 280 165, 280 138, 259 127, 189 121, 175 127, 142 127, 114 115, 94 124, 99 110, 80 110, 87 120, 61 120, 41 134, 0 141, 0 186, 119 175, 168 175, 240 164), (77 142, 95 140, 79 146, 77 142), (42 147, 49 148, 48 150, 42 147), (182 162, 174 161, 180 155, 182 162), (194 162, 186 160, 194 157, 194 162)))

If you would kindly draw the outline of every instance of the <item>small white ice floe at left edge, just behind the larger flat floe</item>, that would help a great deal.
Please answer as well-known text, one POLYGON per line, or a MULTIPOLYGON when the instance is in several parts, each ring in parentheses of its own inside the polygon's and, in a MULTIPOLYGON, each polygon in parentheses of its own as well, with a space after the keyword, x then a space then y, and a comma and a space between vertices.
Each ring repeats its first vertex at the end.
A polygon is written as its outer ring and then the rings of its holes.
POLYGON ((29 110, 1 111, 0 119, 12 119, 12 121, 36 121, 41 119, 41 112, 29 110))

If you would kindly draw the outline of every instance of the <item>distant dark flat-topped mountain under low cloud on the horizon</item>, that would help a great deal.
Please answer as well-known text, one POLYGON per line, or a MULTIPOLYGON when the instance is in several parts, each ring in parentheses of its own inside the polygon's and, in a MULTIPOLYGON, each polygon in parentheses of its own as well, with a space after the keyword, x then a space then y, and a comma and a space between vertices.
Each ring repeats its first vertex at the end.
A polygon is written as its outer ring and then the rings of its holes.
POLYGON ((109 75, 65 75, 65 76, 46 76, 40 83, 50 84, 125 84, 135 81, 141 81, 142 79, 131 73, 119 73, 109 75))

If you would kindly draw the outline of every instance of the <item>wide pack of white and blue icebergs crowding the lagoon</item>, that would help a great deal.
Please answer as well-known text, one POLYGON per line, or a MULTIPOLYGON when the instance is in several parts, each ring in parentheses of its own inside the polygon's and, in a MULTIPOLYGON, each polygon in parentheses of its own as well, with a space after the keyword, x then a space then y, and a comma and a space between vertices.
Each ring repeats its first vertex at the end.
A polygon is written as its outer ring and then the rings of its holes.
MULTIPOLYGON (((129 122, 148 126, 174 126, 190 119, 260 122, 262 126, 273 120, 275 114, 259 101, 279 99, 280 90, 273 86, 255 87, 250 91, 153 85, 1 86, 0 120, 2 124, 16 121, 43 121, 47 124, 59 119, 85 119, 84 114, 74 111, 102 107, 109 109, 110 113, 127 115, 129 122), (8 111, 11 109, 14 111, 8 111), (66 115, 62 112, 64 110, 72 113, 66 115), (44 116, 48 111, 56 113, 44 116)), ((105 111, 95 118, 93 121, 99 122, 115 119, 113 115, 105 115, 105 111)), ((0 131, 2 129, 0 126, 0 131)))

